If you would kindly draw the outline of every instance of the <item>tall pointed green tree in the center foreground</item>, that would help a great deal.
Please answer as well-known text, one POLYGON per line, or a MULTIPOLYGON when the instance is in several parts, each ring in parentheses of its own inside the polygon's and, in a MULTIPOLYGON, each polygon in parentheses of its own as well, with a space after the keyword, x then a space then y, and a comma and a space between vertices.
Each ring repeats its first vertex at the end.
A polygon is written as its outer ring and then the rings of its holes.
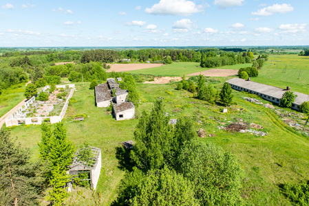
POLYGON ((131 158, 144 171, 162 168, 169 159, 173 133, 165 113, 163 101, 157 100, 150 114, 142 112, 134 131, 136 145, 131 158))

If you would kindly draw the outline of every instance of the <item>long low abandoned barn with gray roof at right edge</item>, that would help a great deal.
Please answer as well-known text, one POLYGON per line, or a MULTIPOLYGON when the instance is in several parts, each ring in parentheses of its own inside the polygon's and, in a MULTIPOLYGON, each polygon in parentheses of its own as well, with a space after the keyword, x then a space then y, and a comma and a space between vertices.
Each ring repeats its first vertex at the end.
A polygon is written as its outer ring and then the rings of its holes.
MULTIPOLYGON (((233 78, 231 80, 227 80, 226 82, 231 84, 232 89, 238 91, 246 91, 248 93, 254 93, 256 95, 259 95, 264 100, 268 100, 276 104, 280 104, 282 95, 286 91, 290 90, 290 87, 287 87, 286 89, 281 89, 279 87, 273 87, 267 84, 252 82, 250 80, 243 80, 241 78, 233 78)), ((297 98, 295 102, 292 103, 291 108, 299 111, 299 106, 301 105, 301 103, 309 101, 309 95, 299 92, 294 93, 297 95, 297 98)))

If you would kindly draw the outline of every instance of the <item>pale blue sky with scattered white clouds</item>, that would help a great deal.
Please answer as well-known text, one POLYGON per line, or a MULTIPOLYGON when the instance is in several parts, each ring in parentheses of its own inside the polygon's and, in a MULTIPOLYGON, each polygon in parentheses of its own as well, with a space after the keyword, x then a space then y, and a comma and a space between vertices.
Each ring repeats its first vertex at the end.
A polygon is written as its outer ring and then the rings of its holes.
POLYGON ((308 0, 1 0, 0 47, 309 45, 308 8, 308 0))

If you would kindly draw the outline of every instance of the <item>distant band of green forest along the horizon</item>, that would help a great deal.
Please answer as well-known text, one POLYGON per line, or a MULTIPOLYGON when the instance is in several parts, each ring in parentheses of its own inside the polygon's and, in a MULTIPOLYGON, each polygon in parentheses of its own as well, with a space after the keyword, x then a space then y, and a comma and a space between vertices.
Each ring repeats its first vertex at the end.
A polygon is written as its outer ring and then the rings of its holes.
MULTIPOLYGON (((253 55, 299 54, 309 47, 1 47, 0 93, 14 84, 32 80, 38 87, 70 81, 105 80, 107 63, 200 62, 220 67, 251 62, 253 55), (293 52, 295 51, 295 52, 293 52), (74 62, 55 65, 56 62, 74 62)), ((263 58, 263 57, 262 57, 263 58)), ((115 76, 116 74, 113 73, 115 76)), ((120 75, 120 74, 118 74, 120 75)))

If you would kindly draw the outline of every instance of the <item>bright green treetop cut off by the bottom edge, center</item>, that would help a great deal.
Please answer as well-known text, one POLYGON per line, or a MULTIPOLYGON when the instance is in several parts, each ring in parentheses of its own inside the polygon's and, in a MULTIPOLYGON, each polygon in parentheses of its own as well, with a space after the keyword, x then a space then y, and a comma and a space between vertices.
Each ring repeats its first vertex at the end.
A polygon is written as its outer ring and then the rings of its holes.
POLYGON ((151 170, 136 187, 130 205, 199 205, 190 181, 169 170, 151 170))

